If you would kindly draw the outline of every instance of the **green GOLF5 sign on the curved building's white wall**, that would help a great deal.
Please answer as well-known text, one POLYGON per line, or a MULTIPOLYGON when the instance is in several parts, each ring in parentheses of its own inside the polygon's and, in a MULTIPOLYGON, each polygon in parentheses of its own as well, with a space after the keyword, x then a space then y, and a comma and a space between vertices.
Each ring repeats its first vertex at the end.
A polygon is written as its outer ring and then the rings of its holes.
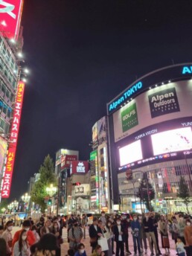
POLYGON ((129 106, 123 112, 121 112, 121 122, 123 132, 126 132, 128 129, 138 125, 138 113, 136 108, 136 103, 129 106))

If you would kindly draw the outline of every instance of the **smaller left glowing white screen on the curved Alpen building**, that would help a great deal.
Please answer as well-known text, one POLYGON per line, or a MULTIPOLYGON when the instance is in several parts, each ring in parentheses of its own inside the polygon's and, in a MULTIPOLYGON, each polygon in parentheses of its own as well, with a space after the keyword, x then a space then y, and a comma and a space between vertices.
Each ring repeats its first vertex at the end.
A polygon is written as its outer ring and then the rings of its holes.
POLYGON ((121 147, 119 149, 119 156, 121 166, 143 159, 141 140, 135 141, 125 147, 121 147))

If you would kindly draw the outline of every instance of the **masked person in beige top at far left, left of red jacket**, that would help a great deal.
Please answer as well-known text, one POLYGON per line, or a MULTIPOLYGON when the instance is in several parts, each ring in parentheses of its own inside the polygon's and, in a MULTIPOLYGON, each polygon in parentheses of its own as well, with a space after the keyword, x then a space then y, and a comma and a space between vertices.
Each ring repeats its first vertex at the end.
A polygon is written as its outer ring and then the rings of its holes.
POLYGON ((4 226, 4 232, 1 235, 1 238, 3 238, 6 242, 7 256, 11 255, 11 251, 13 248, 13 238, 11 234, 12 230, 13 230, 13 222, 11 220, 8 220, 4 226))

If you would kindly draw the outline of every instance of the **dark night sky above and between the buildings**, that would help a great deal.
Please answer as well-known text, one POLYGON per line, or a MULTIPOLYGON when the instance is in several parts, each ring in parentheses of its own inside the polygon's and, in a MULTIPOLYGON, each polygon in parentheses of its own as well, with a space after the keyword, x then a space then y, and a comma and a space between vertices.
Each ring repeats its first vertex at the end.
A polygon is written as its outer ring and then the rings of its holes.
POLYGON ((192 3, 25 0, 31 69, 13 173, 19 199, 45 156, 60 148, 89 159, 92 126, 106 103, 149 71, 192 61, 192 3))

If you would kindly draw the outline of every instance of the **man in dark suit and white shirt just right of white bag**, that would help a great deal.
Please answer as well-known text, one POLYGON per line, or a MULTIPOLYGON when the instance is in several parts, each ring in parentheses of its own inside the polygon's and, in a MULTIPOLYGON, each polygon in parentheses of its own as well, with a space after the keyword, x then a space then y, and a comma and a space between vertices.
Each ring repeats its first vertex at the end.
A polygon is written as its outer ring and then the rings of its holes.
POLYGON ((121 224, 121 219, 117 219, 117 225, 114 225, 113 233, 115 235, 116 242, 116 256, 119 256, 119 251, 121 256, 124 256, 124 226, 121 224))

